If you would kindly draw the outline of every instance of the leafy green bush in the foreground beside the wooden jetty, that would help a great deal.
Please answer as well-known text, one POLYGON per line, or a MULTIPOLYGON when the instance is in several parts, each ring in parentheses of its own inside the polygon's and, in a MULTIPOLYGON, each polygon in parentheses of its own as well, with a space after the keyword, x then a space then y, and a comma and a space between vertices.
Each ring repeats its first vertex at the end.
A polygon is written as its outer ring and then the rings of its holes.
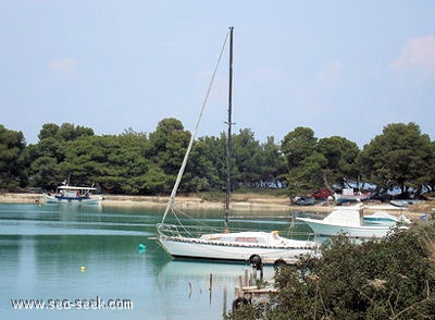
POLYGON ((278 269, 279 293, 227 319, 434 319, 435 224, 356 244, 345 235, 278 269), (250 310, 247 310, 250 309, 250 310))

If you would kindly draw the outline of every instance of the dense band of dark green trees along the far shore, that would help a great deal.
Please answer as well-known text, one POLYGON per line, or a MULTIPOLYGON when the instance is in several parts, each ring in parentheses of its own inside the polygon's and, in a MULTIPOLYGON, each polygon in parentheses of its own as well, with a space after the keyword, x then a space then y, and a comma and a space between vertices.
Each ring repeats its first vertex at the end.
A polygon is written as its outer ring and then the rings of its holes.
MULTIPOLYGON (((72 184, 95 184, 104 193, 167 194, 190 133, 181 121, 164 119, 149 134, 127 130, 102 136, 89 127, 48 123, 38 138, 27 146, 22 132, 0 125, 1 190, 51 190, 71 176, 72 184)), ((181 192, 222 190, 225 148, 224 133, 199 137, 181 192)), ((435 143, 414 123, 386 125, 362 150, 344 137, 316 138, 308 127, 296 127, 281 144, 273 137, 261 144, 244 128, 233 136, 231 161, 234 189, 285 185, 290 195, 300 195, 364 182, 383 192, 421 194, 435 187, 435 143)))

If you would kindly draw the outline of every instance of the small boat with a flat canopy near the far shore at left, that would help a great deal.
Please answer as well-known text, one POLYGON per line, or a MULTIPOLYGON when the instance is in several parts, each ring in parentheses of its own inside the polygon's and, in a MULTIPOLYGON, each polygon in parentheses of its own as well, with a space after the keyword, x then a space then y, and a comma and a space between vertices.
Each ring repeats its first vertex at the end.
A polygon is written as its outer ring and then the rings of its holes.
POLYGON ((71 186, 69 184, 58 187, 54 194, 44 193, 42 199, 45 204, 69 204, 69 205, 90 205, 100 206, 101 196, 95 196, 92 193, 95 187, 71 186))

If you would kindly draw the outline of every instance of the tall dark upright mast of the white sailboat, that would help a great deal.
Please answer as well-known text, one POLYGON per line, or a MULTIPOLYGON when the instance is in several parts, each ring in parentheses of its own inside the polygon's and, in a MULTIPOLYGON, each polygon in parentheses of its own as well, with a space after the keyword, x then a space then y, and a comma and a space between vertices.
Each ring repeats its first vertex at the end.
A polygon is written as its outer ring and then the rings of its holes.
POLYGON ((233 109, 233 29, 229 27, 229 82, 228 82, 228 134, 226 140, 226 193, 225 193, 225 230, 228 230, 231 201, 231 158, 232 158, 232 109, 233 109))

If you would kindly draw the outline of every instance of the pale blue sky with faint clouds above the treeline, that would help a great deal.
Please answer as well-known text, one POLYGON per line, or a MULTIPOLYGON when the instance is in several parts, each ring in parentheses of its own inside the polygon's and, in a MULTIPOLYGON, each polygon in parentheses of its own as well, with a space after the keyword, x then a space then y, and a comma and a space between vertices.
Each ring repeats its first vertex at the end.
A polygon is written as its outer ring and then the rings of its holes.
MULTIPOLYGON (((0 0, 0 124, 192 131, 228 26, 235 131, 360 147, 388 123, 435 139, 435 1, 0 0)), ((225 131, 227 57, 199 136, 225 131)))

